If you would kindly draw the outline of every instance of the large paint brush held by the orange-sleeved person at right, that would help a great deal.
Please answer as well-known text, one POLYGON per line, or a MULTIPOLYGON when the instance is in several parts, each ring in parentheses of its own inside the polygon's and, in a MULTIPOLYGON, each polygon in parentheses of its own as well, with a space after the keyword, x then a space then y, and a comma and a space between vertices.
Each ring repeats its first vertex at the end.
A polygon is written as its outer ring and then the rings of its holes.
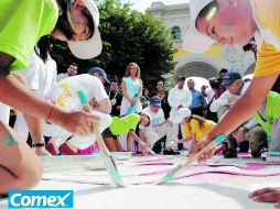
POLYGON ((197 161, 197 158, 204 153, 206 150, 212 150, 216 145, 220 144, 226 139, 225 134, 220 134, 217 138, 215 138, 214 141, 212 141, 209 144, 207 144, 204 148, 202 148, 200 152, 191 156, 186 162, 181 163, 173 167, 169 173, 166 173, 160 180, 155 182, 155 185, 164 184, 169 180, 174 179, 175 176, 177 176, 180 173, 182 173, 184 169, 186 169, 192 163, 197 161))

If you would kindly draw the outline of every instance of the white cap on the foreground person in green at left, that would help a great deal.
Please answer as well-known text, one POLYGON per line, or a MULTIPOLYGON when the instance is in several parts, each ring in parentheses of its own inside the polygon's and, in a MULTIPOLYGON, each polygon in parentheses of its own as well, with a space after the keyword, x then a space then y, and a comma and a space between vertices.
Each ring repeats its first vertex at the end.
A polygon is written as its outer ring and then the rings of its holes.
POLYGON ((82 59, 89 59, 98 56, 101 53, 103 42, 98 31, 99 11, 97 6, 94 0, 84 0, 84 2, 95 23, 94 34, 89 40, 76 42, 68 41, 67 44, 73 55, 82 59))

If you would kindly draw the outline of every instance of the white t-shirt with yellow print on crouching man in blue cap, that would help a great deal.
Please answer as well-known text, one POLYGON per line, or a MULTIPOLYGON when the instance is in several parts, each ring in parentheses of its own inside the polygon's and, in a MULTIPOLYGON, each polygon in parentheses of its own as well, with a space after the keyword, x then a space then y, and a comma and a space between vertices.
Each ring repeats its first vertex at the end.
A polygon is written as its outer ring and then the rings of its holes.
POLYGON ((97 102, 100 102, 108 98, 103 82, 97 77, 82 74, 71 76, 57 82, 51 92, 52 101, 69 111, 83 110, 83 105, 77 95, 78 90, 85 92, 88 101, 95 99, 97 102))

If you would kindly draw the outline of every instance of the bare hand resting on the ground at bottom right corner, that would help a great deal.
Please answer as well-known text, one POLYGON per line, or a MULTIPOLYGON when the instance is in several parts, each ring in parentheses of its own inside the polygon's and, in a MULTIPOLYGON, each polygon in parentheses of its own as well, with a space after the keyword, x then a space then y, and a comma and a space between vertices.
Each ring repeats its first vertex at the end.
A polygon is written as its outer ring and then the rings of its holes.
POLYGON ((258 189, 248 197, 254 201, 277 202, 276 208, 280 208, 280 187, 258 189))

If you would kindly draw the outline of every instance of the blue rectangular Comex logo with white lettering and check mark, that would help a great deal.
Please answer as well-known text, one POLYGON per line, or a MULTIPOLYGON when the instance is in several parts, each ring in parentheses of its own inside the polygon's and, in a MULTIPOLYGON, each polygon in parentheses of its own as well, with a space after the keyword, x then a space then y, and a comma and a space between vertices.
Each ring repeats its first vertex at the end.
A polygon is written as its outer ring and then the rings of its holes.
POLYGON ((73 208, 73 190, 11 190, 9 208, 73 208))

